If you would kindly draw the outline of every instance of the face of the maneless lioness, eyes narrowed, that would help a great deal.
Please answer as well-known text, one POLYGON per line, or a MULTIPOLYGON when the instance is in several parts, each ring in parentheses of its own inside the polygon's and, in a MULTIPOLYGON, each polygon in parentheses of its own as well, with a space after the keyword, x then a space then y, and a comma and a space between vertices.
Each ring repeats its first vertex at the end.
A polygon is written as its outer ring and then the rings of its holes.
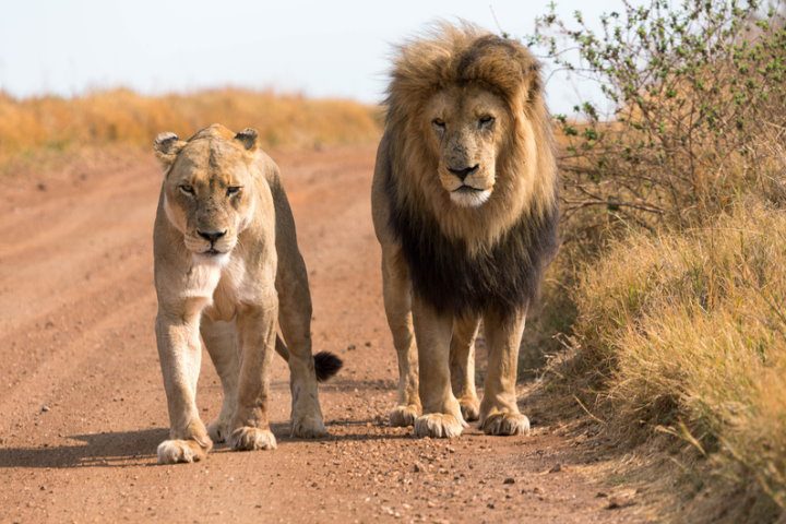
POLYGON ((178 154, 164 184, 165 211, 200 261, 228 259, 251 222, 251 183, 247 152, 236 141, 194 140, 178 154))

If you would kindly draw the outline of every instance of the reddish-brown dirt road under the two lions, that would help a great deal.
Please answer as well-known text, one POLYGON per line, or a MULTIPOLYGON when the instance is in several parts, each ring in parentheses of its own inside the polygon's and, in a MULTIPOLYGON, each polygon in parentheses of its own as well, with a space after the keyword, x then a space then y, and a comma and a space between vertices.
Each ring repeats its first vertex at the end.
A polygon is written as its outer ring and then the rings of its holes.
MULTIPOLYGON (((289 438, 278 359, 276 451, 156 465, 168 426, 153 333, 160 174, 152 154, 94 153, 0 190, 0 522, 640 519, 607 509, 595 464, 525 395, 531 437, 417 440, 388 427, 396 366, 370 221, 373 151, 274 156, 309 267, 314 349, 346 362, 321 388, 331 437, 289 438)), ((218 413, 206 355, 198 402, 204 420, 218 413)))

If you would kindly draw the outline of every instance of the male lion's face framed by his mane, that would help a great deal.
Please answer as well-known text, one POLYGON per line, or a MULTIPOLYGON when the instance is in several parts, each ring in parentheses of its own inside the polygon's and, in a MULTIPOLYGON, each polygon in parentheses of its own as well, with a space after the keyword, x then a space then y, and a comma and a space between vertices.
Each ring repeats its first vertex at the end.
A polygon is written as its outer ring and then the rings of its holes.
POLYGON ((497 155, 511 124, 504 102, 477 86, 451 87, 433 96, 425 117, 451 201, 483 205, 495 189, 497 155))

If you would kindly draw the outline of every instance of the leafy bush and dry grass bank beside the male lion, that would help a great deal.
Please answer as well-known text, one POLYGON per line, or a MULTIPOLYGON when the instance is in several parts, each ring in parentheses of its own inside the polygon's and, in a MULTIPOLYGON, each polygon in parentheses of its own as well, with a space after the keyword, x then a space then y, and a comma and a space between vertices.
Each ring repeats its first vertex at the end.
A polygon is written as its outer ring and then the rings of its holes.
POLYGON ((677 521, 785 514, 783 13, 621 2, 599 33, 581 13, 549 12, 529 38, 605 96, 556 117, 562 285, 547 286, 558 309, 540 321, 570 349, 546 382, 622 452, 677 446, 678 468, 648 474, 683 488, 671 493, 677 521))

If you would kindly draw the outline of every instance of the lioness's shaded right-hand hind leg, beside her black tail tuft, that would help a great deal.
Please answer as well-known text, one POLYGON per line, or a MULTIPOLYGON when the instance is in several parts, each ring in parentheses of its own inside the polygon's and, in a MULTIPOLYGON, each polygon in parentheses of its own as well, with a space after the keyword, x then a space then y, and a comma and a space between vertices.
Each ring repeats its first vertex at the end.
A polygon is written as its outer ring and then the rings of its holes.
POLYGON ((291 392, 291 434, 313 439, 327 434, 317 390, 317 373, 311 354, 311 293, 302 257, 296 249, 279 251, 278 324, 289 349, 289 389, 291 392))

